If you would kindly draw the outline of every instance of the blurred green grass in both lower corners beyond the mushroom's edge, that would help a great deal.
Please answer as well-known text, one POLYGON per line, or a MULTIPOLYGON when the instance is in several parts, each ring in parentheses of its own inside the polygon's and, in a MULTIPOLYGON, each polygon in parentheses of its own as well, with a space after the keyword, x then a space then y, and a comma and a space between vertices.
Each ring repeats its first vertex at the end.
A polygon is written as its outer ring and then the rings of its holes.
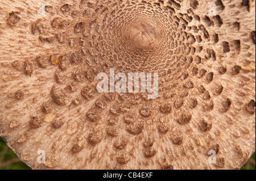
MULTIPOLYGON (((30 170, 31 168, 20 161, 17 155, 6 145, 5 140, 0 137, 0 170, 30 170)), ((255 153, 241 170, 255 170, 255 153)))

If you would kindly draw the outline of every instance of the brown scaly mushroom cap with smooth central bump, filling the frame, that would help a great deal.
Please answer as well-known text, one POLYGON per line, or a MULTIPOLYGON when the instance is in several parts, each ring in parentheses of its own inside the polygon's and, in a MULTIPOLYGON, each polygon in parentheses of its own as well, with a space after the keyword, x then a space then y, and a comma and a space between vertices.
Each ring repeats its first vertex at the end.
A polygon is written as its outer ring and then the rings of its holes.
POLYGON ((1 136, 32 169, 237 169, 255 151, 255 1, 0 10, 1 136), (158 97, 98 92, 110 68, 158 73, 158 97))

